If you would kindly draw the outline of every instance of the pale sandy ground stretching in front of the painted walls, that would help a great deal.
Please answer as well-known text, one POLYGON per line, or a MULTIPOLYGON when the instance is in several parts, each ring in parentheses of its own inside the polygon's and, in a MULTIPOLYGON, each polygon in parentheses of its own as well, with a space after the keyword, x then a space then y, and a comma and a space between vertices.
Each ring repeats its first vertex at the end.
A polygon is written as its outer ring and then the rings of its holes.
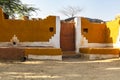
POLYGON ((120 59, 0 61, 0 80, 119 80, 120 59))

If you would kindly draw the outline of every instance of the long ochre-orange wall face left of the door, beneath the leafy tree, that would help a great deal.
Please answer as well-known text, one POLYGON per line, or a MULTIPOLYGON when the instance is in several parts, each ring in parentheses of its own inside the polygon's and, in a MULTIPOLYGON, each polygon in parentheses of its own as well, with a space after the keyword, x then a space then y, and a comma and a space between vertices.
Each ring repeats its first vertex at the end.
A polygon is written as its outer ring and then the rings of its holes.
POLYGON ((14 35, 20 42, 45 42, 56 32, 56 17, 44 20, 10 20, 4 19, 0 9, 0 42, 10 42, 14 35), (53 32, 50 32, 53 28, 53 32))

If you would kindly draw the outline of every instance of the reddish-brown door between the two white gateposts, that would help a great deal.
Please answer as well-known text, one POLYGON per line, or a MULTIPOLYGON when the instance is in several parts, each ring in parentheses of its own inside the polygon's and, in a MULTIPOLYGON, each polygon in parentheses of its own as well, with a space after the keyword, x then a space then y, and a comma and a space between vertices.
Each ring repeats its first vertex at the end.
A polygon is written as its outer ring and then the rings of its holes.
POLYGON ((75 51, 74 23, 61 22, 60 47, 62 51, 75 51))

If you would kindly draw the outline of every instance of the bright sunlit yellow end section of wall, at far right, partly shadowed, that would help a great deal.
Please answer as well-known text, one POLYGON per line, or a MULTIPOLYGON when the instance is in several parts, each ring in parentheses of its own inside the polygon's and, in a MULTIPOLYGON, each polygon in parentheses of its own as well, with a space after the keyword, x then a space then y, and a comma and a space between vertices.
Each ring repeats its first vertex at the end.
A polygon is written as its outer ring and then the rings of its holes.
POLYGON ((106 22, 106 43, 116 43, 119 35, 120 19, 106 22))

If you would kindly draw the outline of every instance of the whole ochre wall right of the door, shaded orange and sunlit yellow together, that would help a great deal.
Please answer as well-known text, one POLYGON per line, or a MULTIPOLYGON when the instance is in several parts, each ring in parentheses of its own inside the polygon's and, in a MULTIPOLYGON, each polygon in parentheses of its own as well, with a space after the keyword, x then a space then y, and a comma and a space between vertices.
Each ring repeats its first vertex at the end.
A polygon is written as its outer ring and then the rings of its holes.
POLYGON ((89 43, 116 43, 119 36, 120 19, 106 23, 93 23, 86 18, 81 18, 81 32, 89 43), (83 29, 88 29, 85 33, 83 29))

